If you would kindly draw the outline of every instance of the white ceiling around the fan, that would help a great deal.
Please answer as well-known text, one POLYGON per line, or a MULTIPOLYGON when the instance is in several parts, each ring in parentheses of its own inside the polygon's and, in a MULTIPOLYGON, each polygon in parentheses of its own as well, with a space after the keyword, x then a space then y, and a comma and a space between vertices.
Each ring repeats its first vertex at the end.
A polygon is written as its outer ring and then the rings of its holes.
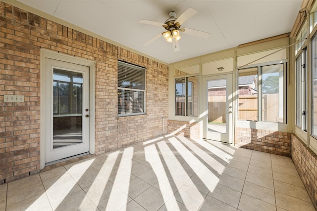
POLYGON ((236 47, 291 31, 302 0, 18 0, 59 19, 96 33, 165 63, 236 47), (210 33, 209 38, 181 34, 180 51, 163 37, 165 31, 138 23, 162 22, 188 7, 198 11, 182 27, 210 33))

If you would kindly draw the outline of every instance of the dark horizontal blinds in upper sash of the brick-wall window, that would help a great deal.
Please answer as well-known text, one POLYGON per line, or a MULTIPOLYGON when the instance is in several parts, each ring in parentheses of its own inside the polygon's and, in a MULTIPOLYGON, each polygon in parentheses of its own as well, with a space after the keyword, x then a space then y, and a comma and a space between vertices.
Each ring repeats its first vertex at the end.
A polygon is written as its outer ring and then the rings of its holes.
POLYGON ((145 89, 145 68, 118 62, 118 88, 145 89))

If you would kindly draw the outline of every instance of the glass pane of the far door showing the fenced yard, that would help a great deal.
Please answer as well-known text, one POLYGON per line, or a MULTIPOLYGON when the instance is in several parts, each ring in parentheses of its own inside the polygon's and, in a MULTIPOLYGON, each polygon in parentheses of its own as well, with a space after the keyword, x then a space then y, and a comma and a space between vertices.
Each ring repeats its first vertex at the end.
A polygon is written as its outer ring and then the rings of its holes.
POLYGON ((207 81, 208 131, 226 133, 227 80, 207 81))

